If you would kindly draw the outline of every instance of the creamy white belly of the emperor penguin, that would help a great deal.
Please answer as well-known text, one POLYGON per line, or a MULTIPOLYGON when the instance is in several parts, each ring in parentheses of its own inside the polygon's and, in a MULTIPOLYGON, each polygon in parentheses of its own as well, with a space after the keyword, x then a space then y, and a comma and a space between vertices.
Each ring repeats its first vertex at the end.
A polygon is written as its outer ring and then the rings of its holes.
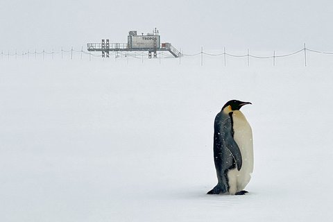
POLYGON ((253 173, 253 137, 250 124, 248 124, 241 111, 234 111, 232 119, 234 123, 234 141, 241 150, 241 158, 243 160, 240 171, 236 168, 228 172, 229 193, 235 194, 248 185, 251 173, 253 173))

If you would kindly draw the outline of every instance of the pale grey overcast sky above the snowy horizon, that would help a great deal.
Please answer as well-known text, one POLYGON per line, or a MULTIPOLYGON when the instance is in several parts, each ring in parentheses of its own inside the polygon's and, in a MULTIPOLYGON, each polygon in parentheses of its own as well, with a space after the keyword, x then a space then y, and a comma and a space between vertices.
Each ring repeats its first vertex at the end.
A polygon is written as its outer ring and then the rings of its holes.
POLYGON ((304 42, 333 51, 333 2, 268 0, 1 0, 0 50, 60 49, 127 42, 128 31, 157 27, 185 52, 294 51, 304 42))

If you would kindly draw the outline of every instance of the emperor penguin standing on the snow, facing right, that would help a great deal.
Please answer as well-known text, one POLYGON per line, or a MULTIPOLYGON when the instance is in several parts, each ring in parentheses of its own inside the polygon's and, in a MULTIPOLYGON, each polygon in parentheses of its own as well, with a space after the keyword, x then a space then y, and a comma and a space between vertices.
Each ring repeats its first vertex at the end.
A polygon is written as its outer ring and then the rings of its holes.
POLYGON ((244 195, 253 173, 253 136, 241 107, 250 102, 225 103, 214 121, 214 164, 217 185, 207 194, 244 195))

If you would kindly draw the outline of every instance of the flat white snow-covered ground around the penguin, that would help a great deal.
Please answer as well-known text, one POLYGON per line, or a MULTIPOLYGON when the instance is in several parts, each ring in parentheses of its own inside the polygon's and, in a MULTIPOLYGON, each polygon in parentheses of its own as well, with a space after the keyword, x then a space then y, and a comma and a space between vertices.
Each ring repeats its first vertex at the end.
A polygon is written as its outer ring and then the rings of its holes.
POLYGON ((330 221, 332 61, 0 61, 0 221, 330 221), (255 170, 211 196, 230 99, 253 103, 255 170))

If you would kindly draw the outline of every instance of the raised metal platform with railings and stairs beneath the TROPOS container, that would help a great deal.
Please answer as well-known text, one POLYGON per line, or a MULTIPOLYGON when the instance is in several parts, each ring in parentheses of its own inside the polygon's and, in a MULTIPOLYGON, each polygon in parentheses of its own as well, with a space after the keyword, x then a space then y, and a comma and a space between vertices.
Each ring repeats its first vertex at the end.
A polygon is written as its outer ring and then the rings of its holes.
POLYGON ((151 53, 154 53, 154 58, 156 58, 157 51, 169 51, 172 56, 178 58, 182 56, 182 53, 173 47, 170 43, 162 43, 162 46, 159 48, 130 48, 127 43, 109 43, 102 40, 102 43, 88 43, 88 51, 101 51, 102 57, 109 57, 110 51, 148 51, 148 57, 151 58, 151 53))

